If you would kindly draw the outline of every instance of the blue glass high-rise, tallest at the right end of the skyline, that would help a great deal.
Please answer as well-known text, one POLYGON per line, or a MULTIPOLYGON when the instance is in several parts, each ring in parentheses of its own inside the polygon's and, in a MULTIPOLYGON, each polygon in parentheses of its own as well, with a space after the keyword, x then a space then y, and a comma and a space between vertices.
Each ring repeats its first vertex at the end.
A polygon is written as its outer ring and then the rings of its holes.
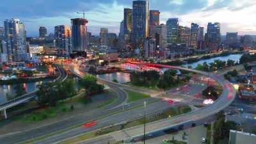
POLYGON ((208 23, 207 33, 205 34, 205 47, 210 51, 218 51, 221 43, 220 23, 208 23))

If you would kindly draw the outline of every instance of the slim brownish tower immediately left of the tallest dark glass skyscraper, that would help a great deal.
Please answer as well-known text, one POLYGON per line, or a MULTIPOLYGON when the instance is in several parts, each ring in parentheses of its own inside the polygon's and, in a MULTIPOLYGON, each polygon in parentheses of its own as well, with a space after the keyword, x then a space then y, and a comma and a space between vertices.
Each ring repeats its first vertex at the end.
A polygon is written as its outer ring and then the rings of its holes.
POLYGON ((125 42, 131 40, 132 33, 132 9, 124 9, 124 40, 125 42))

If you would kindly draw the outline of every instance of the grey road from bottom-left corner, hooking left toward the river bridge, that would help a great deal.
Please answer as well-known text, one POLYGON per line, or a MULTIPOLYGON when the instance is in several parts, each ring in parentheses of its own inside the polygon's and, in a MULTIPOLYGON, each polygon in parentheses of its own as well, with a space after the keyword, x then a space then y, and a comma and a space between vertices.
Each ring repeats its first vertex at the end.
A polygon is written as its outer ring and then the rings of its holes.
MULTIPOLYGON (((75 116, 67 120, 61 120, 61 122, 57 122, 55 124, 45 125, 44 127, 38 127, 25 132, 17 132, 15 134, 3 136, 0 138, 0 143, 20 143, 20 141, 26 141, 36 137, 44 136, 45 134, 61 131, 67 129, 68 127, 72 127, 77 124, 83 124, 84 122, 94 120, 95 118, 99 118, 100 116, 108 116, 109 113, 114 113, 115 111, 122 110, 122 104, 124 104, 125 100, 127 99, 127 93, 125 93, 124 90, 121 90, 118 86, 116 86, 115 83, 109 83, 108 86, 115 90, 118 95, 118 99, 109 106, 93 110, 84 115, 75 116)), ((148 100, 148 102, 150 101, 152 101, 152 99, 148 100)), ((138 105, 139 104, 134 103, 131 106, 138 107, 138 105)), ((129 105, 124 106, 124 108, 127 107, 129 107, 129 105)))

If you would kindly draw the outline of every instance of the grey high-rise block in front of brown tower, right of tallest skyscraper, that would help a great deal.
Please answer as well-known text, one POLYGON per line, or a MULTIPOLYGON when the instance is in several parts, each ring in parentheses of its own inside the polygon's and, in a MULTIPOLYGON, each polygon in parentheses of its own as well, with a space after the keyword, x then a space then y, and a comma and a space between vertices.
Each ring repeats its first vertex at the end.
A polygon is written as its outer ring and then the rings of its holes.
POLYGON ((161 24, 160 26, 151 26, 150 27, 150 36, 152 38, 156 39, 156 49, 158 50, 159 48, 165 49, 166 44, 167 44, 167 30, 166 30, 166 25, 161 24))

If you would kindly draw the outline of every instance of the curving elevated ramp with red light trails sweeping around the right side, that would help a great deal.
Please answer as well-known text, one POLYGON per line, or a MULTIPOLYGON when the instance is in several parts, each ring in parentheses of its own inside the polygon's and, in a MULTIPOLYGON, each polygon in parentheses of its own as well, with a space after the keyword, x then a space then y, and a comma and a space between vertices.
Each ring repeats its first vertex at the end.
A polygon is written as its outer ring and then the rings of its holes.
MULTIPOLYGON (((175 118, 168 118, 166 120, 159 120, 157 122, 152 122, 147 124, 146 131, 147 134, 152 132, 163 131, 164 129, 169 129, 170 127, 174 127, 177 125, 184 125, 188 123, 193 123, 198 120, 202 120, 209 116, 212 116, 219 111, 227 108, 233 100, 236 98, 236 90, 232 86, 232 84, 225 80, 222 76, 217 76, 215 74, 209 74, 207 72, 201 72, 198 70, 193 70, 189 68, 183 67, 173 67, 168 65, 158 65, 158 64, 148 64, 148 63, 134 63, 137 65, 147 65, 148 67, 162 67, 162 68, 174 68, 179 70, 188 70, 190 72, 195 72, 197 74, 202 74, 204 76, 209 76, 212 79, 215 79, 218 83, 223 87, 223 92, 220 95, 220 98, 211 104, 202 109, 198 109, 196 111, 192 111, 191 113, 186 113, 184 115, 177 116, 175 118)), ((125 129, 124 131, 114 132, 112 137, 115 140, 129 140, 131 138, 140 138, 143 136, 143 125, 138 127, 133 127, 131 129, 125 129)))

